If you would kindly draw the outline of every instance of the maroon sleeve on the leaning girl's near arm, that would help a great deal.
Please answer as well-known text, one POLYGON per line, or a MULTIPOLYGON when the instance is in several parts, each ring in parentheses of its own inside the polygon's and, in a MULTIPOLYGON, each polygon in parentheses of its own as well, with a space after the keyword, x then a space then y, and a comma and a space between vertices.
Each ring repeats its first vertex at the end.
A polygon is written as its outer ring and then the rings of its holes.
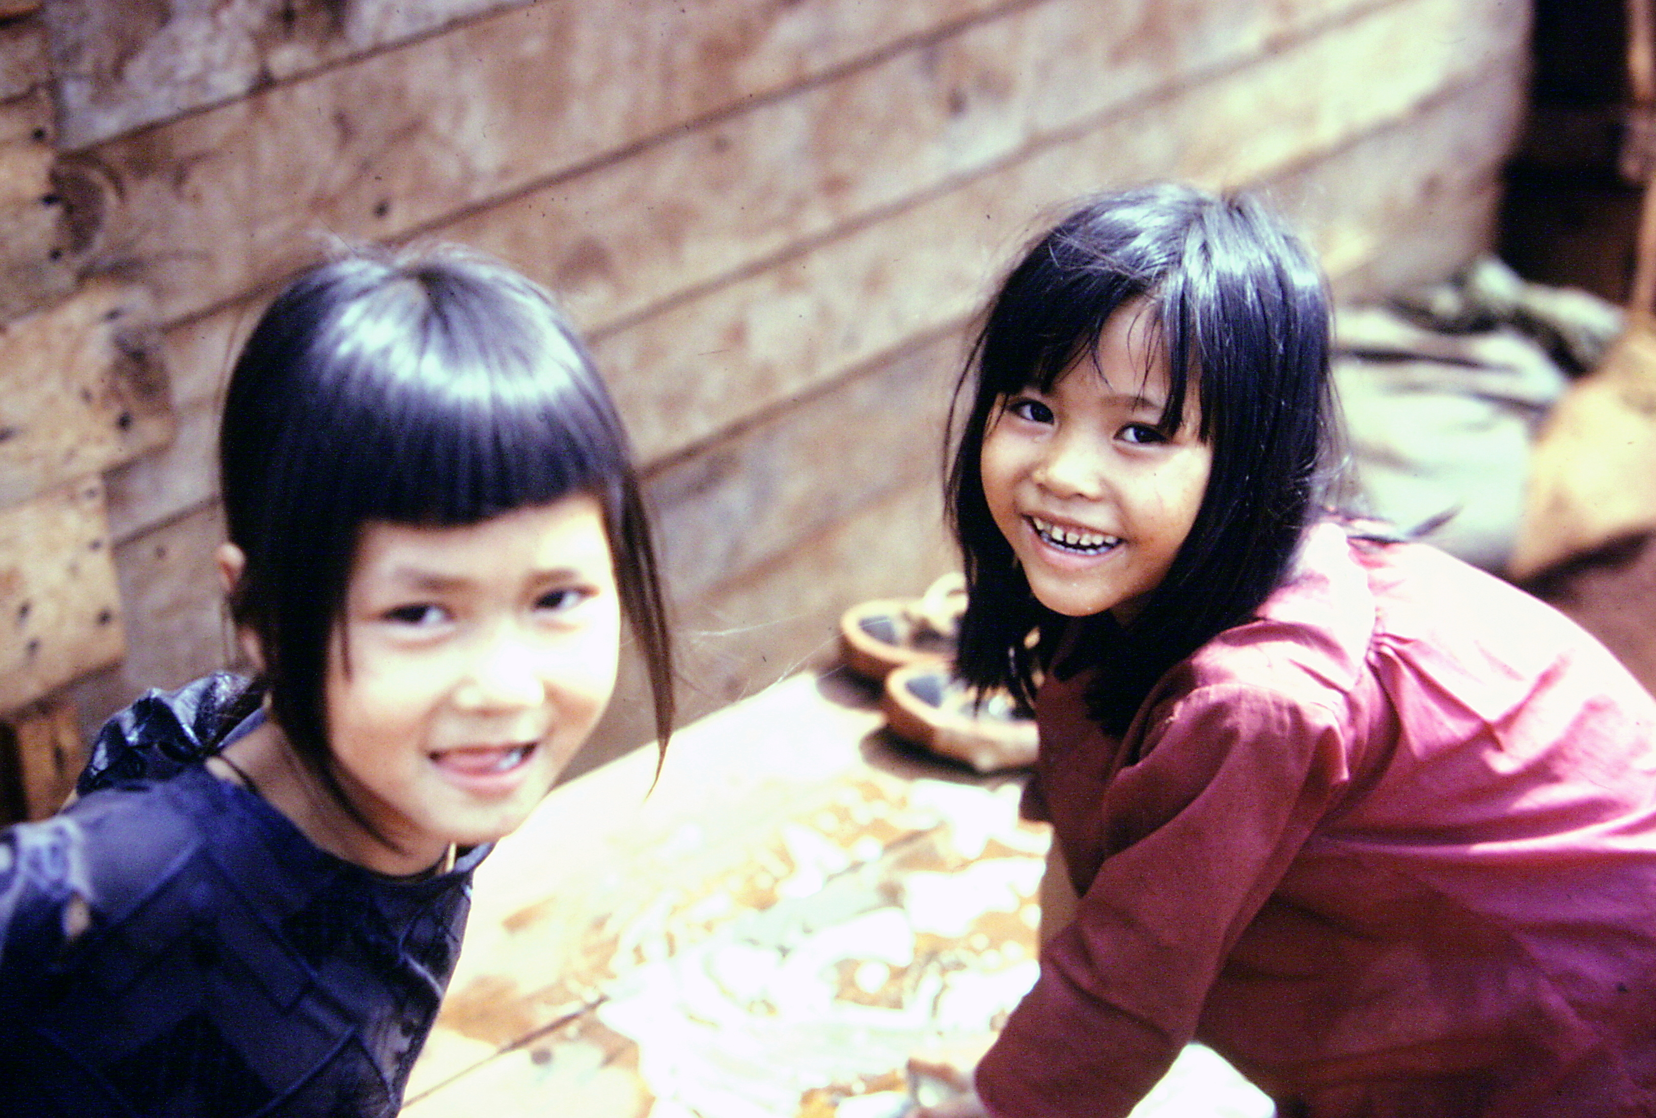
POLYGON ((1161 1078, 1242 929, 1343 790, 1343 725, 1288 696, 1196 689, 1156 712, 1090 835, 1052 803, 1070 865, 1098 871, 979 1067, 995 1118, 1126 1115, 1161 1078))

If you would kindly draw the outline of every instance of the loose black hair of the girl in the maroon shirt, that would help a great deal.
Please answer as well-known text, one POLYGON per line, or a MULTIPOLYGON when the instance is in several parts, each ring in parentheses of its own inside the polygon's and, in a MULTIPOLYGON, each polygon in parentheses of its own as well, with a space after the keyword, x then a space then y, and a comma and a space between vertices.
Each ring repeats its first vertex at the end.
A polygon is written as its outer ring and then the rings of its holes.
POLYGON ((1194 389, 1212 470, 1143 611, 1124 628, 1108 614, 1086 619, 1073 641, 1078 664, 1101 667, 1090 706, 1114 734, 1163 672, 1249 618, 1283 580, 1317 507, 1331 421, 1326 288, 1312 253, 1259 202, 1151 186, 1080 205, 1002 283, 956 393, 965 419, 947 502, 969 590, 959 651, 969 682, 1032 701, 1035 669, 1065 621, 1035 601, 989 513, 985 431, 1009 394, 1050 391, 1080 361, 1096 361, 1108 318, 1141 296, 1169 361, 1161 422, 1176 431, 1194 389))

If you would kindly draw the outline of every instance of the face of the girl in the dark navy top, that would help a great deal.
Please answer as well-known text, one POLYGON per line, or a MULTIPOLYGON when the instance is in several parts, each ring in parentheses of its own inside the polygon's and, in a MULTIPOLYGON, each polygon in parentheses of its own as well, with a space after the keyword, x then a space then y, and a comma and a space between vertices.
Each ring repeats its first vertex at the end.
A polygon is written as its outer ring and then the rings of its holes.
POLYGON ((590 495, 465 527, 369 522, 328 651, 328 739, 351 803, 406 856, 356 860, 407 871, 517 828, 603 714, 619 641, 590 495))

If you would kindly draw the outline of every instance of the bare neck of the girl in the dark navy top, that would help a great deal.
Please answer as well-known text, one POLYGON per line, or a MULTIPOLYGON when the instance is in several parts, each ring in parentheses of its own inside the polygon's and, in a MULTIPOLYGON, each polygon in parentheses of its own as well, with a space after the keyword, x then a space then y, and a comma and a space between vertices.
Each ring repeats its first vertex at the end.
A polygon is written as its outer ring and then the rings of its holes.
MULTIPOLYGON (((243 783, 300 830, 305 838, 335 858, 392 878, 414 878, 440 871, 452 856, 444 843, 397 843, 369 833, 351 818, 323 787, 310 765, 300 760, 282 729, 268 717, 262 725, 224 747, 209 760, 222 780, 243 783)), ((396 840, 394 835, 388 836, 396 840)))

